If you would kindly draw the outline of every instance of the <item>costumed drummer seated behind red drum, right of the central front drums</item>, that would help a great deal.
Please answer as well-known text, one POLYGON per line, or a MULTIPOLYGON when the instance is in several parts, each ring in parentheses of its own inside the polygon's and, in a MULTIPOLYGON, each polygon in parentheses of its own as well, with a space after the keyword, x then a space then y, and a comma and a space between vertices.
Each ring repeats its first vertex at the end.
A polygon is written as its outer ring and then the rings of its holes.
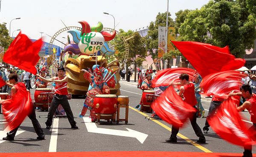
MULTIPOLYGON (((142 91, 144 90, 152 90, 152 82, 151 82, 151 75, 152 75, 153 71, 152 70, 147 70, 145 73, 145 80, 143 80, 142 84, 141 84, 141 89, 142 91)), ((140 110, 141 108, 141 104, 142 104, 142 98, 140 99, 140 104, 137 105, 135 108, 140 110)))

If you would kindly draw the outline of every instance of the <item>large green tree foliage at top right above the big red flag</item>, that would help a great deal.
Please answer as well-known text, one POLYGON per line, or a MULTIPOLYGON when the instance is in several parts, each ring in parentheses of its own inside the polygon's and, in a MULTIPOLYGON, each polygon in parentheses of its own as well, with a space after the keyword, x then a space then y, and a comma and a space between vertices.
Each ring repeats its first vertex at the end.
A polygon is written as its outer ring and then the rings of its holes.
POLYGON ((186 15, 178 28, 178 40, 229 45, 231 53, 240 57, 256 39, 255 5, 249 3, 250 0, 210 0, 200 10, 186 15))

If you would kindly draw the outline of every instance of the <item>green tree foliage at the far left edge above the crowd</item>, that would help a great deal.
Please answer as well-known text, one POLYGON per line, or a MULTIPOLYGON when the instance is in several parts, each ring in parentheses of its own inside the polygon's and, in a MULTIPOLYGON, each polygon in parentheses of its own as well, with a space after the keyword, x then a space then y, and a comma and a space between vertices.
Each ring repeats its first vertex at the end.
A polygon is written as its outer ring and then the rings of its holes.
POLYGON ((9 36, 9 31, 6 28, 6 23, 0 23, 0 46, 7 50, 9 45, 12 43, 12 38, 9 36))

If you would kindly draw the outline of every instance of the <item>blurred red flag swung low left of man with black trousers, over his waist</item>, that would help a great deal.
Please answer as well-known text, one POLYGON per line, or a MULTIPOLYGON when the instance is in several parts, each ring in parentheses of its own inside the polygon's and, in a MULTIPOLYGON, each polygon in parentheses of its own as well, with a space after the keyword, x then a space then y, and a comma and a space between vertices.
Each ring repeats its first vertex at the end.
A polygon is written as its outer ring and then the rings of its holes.
POLYGON ((168 87, 160 98, 151 105, 154 112, 167 123, 181 127, 196 109, 183 101, 172 86, 168 87))

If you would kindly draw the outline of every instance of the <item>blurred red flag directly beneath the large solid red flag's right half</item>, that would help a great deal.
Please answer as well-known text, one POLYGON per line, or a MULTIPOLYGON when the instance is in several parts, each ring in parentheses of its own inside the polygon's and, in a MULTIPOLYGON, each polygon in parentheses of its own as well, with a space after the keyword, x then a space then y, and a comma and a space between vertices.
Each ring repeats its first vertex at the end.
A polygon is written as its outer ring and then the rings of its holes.
POLYGON ((244 76, 234 70, 213 73, 204 77, 200 86, 204 95, 218 95, 218 97, 227 99, 230 92, 240 90, 241 78, 244 76))

